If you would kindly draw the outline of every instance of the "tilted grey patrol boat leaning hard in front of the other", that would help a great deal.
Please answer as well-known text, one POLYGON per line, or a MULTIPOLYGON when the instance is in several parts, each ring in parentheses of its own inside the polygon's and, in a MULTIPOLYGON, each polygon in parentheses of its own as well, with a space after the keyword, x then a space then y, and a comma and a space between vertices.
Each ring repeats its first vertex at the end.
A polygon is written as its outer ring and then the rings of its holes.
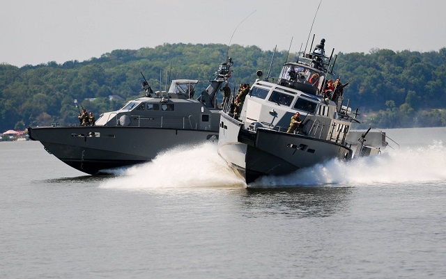
POLYGON ((285 63, 277 83, 269 81, 269 73, 261 80, 263 72, 257 71, 259 78, 240 113, 234 115, 229 106, 224 107, 218 153, 247 184, 263 175, 286 175, 329 159, 378 154, 385 147, 385 143, 366 145, 366 136, 373 134, 369 131, 353 143, 349 140, 351 124, 358 121, 357 111, 352 113, 348 102, 344 104, 348 83, 337 81, 335 88, 325 90, 334 77, 337 56, 333 52, 325 56, 322 39, 311 53, 285 63), (287 133, 296 112, 300 127, 287 133))

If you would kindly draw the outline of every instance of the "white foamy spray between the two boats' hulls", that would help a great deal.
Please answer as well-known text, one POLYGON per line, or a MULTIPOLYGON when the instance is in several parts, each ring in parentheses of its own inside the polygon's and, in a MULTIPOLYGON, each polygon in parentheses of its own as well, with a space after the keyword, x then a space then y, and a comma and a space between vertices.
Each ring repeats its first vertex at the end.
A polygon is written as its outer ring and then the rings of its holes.
POLYGON ((183 145, 166 150, 146 164, 116 170, 100 185, 116 189, 246 186, 217 153, 217 143, 183 145))

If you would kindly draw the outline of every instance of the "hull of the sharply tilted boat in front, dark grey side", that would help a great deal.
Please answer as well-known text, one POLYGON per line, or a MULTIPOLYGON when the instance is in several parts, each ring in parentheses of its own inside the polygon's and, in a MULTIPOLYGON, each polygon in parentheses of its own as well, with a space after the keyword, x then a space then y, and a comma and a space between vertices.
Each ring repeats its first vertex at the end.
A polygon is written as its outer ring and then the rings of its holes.
POLYGON ((222 115, 218 152, 247 184, 264 175, 286 175, 329 159, 349 159, 344 145, 300 134, 259 128, 247 131, 222 115))

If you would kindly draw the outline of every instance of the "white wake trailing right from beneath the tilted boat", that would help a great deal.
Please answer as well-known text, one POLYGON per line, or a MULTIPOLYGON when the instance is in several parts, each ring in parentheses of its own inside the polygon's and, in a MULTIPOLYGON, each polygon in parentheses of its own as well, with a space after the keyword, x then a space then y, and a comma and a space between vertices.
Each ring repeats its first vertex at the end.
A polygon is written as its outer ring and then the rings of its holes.
POLYGON ((442 142, 420 148, 342 162, 331 160, 282 177, 262 177, 249 186, 376 184, 446 180, 446 148, 442 142))

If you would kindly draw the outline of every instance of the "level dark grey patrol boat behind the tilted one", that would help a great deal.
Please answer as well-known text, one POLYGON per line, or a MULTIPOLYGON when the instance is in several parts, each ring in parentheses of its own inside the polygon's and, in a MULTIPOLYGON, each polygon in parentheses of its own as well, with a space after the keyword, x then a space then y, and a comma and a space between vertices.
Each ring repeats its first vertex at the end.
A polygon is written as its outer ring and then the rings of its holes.
POLYGON ((177 145, 216 141, 221 110, 216 94, 231 77, 232 65, 231 58, 221 63, 215 79, 197 99, 197 80, 177 79, 168 92, 153 93, 144 79, 144 97, 117 111, 102 113, 95 125, 29 127, 29 138, 40 141, 47 152, 72 168, 90 175, 151 161, 162 150, 177 145))

